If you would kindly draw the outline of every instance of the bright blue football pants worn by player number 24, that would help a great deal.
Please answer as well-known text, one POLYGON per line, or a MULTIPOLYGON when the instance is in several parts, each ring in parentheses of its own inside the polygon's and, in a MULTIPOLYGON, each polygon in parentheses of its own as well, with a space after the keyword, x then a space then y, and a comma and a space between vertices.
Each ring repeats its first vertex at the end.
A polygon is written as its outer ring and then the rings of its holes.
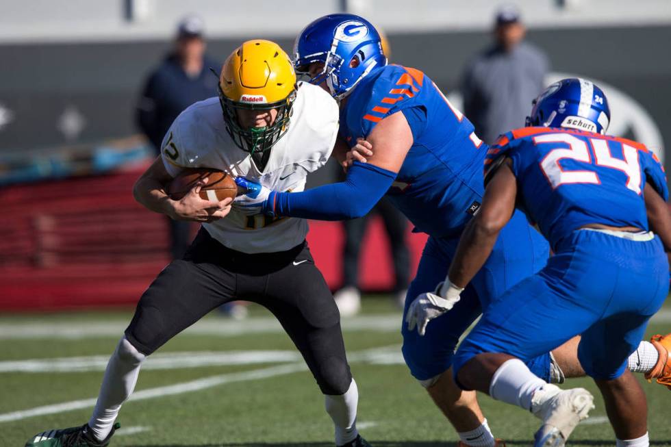
POLYGON ((459 346, 455 377, 479 353, 529 361, 581 334, 578 359, 587 375, 616 379, 663 304, 668 278, 659 238, 643 242, 574 231, 545 268, 485 311, 459 346))

